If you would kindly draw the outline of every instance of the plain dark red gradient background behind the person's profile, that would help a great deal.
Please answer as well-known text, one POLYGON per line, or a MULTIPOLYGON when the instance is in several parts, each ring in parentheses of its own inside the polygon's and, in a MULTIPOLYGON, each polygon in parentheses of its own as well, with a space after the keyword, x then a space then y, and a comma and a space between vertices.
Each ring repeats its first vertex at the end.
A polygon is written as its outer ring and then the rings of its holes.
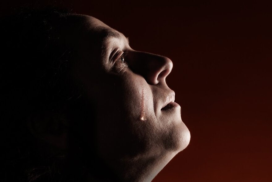
MULTIPOLYGON (((51 1, 32 1, 37 5, 51 1)), ((1 15, 26 1, 2 2, 1 15)), ((189 146, 153 182, 272 181, 272 6, 249 1, 57 1, 168 56, 189 146)))

